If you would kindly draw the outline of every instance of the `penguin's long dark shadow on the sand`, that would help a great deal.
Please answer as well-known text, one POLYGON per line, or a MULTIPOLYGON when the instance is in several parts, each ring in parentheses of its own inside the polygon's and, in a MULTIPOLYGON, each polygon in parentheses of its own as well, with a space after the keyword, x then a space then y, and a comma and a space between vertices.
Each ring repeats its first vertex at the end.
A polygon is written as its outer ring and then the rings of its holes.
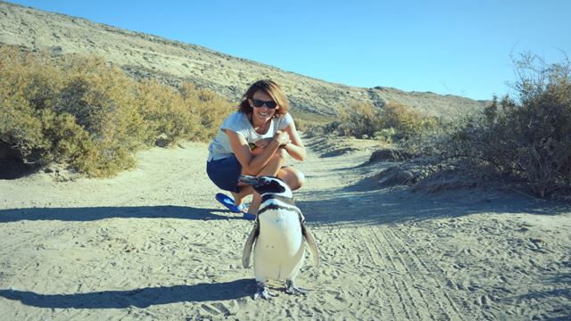
POLYGON ((152 305, 176 302, 203 302, 236 300, 252 295, 256 284, 253 279, 235 281, 160 286, 129 291, 102 291, 73 294, 40 294, 29 291, 0 290, 0 297, 19 300, 22 304, 51 309, 122 309, 147 308, 152 305))

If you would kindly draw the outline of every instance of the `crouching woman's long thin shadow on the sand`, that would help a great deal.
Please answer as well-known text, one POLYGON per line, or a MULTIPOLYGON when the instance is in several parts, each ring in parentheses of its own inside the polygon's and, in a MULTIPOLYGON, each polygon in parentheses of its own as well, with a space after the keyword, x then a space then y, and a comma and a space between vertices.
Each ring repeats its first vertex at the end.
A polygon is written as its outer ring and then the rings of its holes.
MULTIPOLYGON (((89 208, 31 208, 0 210, 0 223, 20 220, 93 221, 104 218, 186 218, 186 219, 233 219, 237 215, 214 214, 214 209, 197 209, 185 206, 133 206, 89 208)), ((242 218, 239 218, 242 219, 242 218)))

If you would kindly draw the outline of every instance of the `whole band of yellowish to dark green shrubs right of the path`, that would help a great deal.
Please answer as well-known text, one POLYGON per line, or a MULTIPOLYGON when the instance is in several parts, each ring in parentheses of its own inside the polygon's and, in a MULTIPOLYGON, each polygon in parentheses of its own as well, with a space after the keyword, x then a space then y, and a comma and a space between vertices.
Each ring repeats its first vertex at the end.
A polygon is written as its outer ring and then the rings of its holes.
POLYGON ((516 95, 458 119, 437 119, 407 106, 353 103, 315 133, 373 138, 422 159, 426 176, 494 177, 546 198, 571 198, 571 72, 533 54, 515 60, 516 95))

